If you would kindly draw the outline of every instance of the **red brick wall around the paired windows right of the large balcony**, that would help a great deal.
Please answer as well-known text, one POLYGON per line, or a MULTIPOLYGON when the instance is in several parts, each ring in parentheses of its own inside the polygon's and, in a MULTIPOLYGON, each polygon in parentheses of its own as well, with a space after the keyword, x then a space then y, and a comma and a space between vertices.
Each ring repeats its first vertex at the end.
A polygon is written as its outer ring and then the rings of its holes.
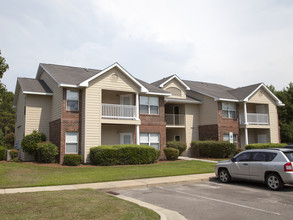
POLYGON ((147 115, 140 114, 141 125, 139 127, 140 133, 159 133, 160 134, 160 149, 161 157, 164 159, 164 148, 166 147, 166 122, 165 122, 165 104, 164 97, 159 98, 159 114, 147 115))

